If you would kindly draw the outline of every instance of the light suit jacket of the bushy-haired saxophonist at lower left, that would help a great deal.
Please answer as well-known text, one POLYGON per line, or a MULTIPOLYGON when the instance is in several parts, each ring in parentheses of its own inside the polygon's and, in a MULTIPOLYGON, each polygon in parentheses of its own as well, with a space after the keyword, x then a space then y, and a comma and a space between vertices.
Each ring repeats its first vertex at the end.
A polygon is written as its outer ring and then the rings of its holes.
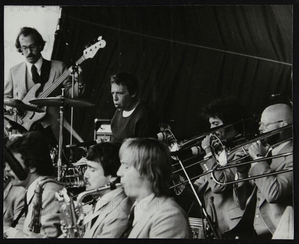
MULTIPOLYGON (((41 178, 41 180, 44 178, 41 178)), ((49 238, 57 238, 60 236, 60 214, 59 214, 59 203, 55 199, 55 192, 63 189, 53 182, 48 182, 44 185, 44 190, 42 192, 42 210, 41 210, 41 230, 40 234, 46 234, 49 238)), ((28 206, 28 213, 24 221, 24 226, 22 230, 16 233, 14 238, 24 238, 24 231, 29 231, 29 224, 32 220, 33 203, 35 201, 36 194, 33 195, 31 204, 28 206)))

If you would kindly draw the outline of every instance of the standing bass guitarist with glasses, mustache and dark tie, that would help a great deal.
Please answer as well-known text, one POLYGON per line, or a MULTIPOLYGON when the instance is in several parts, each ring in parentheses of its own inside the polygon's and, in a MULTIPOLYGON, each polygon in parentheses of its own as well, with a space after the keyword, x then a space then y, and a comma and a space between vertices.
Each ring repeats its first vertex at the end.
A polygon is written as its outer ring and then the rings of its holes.
MULTIPOLYGON (((44 49, 45 43, 46 41, 43 40, 35 28, 21 28, 17 35, 15 46, 17 51, 25 57, 26 61, 13 66, 9 70, 8 79, 4 82, 4 99, 17 97, 17 99, 23 100, 30 89, 36 89, 34 85, 37 83, 40 83, 41 87, 36 92, 44 91, 66 70, 66 66, 62 62, 49 61, 42 57, 41 51, 44 49)), ((81 72, 82 70, 79 68, 79 71, 81 72)), ((65 88, 64 95, 70 97, 72 95, 72 80, 70 77, 62 82, 62 87, 65 88)), ((49 96, 61 95, 60 88, 55 89, 49 96)), ((80 78, 78 82, 75 82, 74 97, 80 95, 83 90, 84 81, 80 78)), ((28 100, 32 100, 32 97, 28 100)), ((13 112, 12 107, 6 106, 5 108, 8 112, 13 112)), ((50 121, 57 121, 56 119, 58 118, 59 110, 47 108, 47 115, 41 120, 42 127, 38 123, 39 129, 35 129, 43 130, 42 128, 47 128, 50 125, 50 121)), ((53 123, 51 125, 53 126, 53 123)), ((49 128, 47 129, 49 130, 49 128)), ((55 131, 53 132, 55 133, 55 131)), ((58 137, 57 134, 55 136, 56 138, 58 137)))

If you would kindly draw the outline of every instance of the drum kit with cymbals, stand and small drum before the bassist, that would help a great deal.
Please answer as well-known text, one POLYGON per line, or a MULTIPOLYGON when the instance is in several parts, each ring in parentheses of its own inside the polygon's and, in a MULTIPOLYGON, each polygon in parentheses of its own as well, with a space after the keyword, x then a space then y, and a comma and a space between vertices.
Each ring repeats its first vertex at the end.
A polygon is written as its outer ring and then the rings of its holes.
MULTIPOLYGON (((57 180, 60 180, 61 177, 63 177, 62 180, 67 180, 68 182, 81 182, 83 181, 82 175, 83 170, 85 167, 81 166, 79 171, 75 166, 69 165, 67 169, 62 168, 62 129, 63 129, 63 110, 64 108, 68 107, 88 107, 88 106, 94 106, 94 104, 83 100, 83 99, 75 99, 75 98, 69 98, 65 97, 63 95, 57 96, 57 97, 47 97, 47 98, 41 98, 41 99, 33 99, 29 101, 29 103, 35 105, 32 106, 30 104, 25 104, 19 99, 7 99, 4 100, 4 105, 9 106, 13 108, 13 113, 6 113, 4 112, 4 136, 7 139, 12 139, 15 136, 19 136, 25 132, 27 132, 27 129, 25 129, 22 125, 17 123, 17 116, 18 114, 21 114, 22 111, 32 111, 32 112, 45 112, 44 110, 36 107, 36 106, 49 106, 49 107, 59 107, 60 108, 60 128, 59 128, 59 147, 58 147, 58 162, 57 162, 57 180), (11 119, 11 115, 13 115, 14 119, 11 119), (10 117, 10 118, 9 118, 10 117)), ((85 163, 86 164, 86 163, 85 163)))

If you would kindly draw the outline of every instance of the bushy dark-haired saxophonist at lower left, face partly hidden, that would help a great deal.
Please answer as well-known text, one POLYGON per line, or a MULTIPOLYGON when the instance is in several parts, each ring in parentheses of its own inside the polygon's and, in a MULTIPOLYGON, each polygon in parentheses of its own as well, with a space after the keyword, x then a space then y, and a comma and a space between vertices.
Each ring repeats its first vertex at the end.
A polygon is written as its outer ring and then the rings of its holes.
MULTIPOLYGON (((22 227, 9 227, 4 235, 7 238, 56 238, 61 235, 59 203, 55 199, 55 192, 63 189, 63 186, 55 182, 43 185, 41 196, 42 208, 40 210, 41 229, 39 234, 30 231, 29 225, 33 220, 34 205, 38 203, 35 192, 38 184, 48 177, 53 177, 54 167, 50 158, 49 144, 46 138, 37 131, 24 133, 6 144, 15 159, 27 173, 25 180, 20 180, 13 171, 9 172, 11 185, 26 189, 23 196, 25 220, 22 227)), ((8 171, 8 169, 6 169, 8 171)))

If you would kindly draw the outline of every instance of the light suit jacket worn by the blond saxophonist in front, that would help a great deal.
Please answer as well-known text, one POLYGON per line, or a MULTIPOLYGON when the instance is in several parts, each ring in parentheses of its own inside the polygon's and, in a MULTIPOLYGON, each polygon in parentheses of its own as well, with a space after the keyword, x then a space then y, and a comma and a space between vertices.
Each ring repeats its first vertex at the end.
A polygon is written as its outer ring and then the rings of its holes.
POLYGON ((128 238, 191 238, 188 218, 169 197, 154 197, 128 238))

